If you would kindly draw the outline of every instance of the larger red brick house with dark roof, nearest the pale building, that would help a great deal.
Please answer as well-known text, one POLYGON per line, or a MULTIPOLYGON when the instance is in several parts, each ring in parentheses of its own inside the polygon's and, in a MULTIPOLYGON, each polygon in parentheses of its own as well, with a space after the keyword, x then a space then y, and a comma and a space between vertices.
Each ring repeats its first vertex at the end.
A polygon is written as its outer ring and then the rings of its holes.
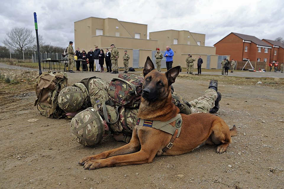
POLYGON ((272 46, 254 36, 230 33, 214 44, 216 54, 230 55, 235 61, 270 62, 272 46))

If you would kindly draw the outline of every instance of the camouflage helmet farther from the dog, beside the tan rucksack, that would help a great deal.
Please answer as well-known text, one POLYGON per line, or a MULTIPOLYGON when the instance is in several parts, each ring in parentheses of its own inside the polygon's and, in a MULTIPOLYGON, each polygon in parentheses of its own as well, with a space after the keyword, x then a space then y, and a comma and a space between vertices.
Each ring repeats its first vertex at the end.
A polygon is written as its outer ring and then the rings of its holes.
POLYGON ((65 112, 70 113, 77 111, 83 106, 87 99, 87 88, 81 83, 76 84, 78 85, 65 87, 59 92, 58 105, 65 112))

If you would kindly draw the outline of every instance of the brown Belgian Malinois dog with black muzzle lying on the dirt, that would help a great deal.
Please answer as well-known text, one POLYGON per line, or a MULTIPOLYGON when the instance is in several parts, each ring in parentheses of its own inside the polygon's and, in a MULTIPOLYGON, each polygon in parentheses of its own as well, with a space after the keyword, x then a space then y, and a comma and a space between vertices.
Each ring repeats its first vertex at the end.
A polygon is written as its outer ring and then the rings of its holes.
MULTIPOLYGON (((147 57, 143 69, 144 82, 138 110, 139 118, 165 122, 177 116, 180 110, 172 102, 170 86, 175 82, 179 72, 180 66, 166 73, 156 71, 150 57, 147 57)), ((217 153, 221 154, 230 144, 231 136, 237 134, 235 126, 229 129, 225 121, 216 115, 195 113, 181 114, 181 117, 182 126, 177 138, 156 128, 135 126, 129 144, 98 155, 84 157, 78 163, 89 170, 117 165, 151 163, 156 155, 184 154, 204 144, 220 144, 217 147, 217 153), (172 142, 173 138, 175 138, 174 142, 172 142), (164 152, 170 143, 171 148, 164 152)), ((175 126, 175 122, 170 125, 175 126)))

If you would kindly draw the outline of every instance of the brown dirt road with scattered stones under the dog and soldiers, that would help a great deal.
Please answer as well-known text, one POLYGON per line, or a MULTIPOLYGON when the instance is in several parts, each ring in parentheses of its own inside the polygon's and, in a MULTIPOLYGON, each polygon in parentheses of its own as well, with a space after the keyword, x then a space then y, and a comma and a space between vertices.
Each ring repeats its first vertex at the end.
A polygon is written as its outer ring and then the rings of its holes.
MULTIPOLYGON (((1 69, 2 75, 3 71, 7 70, 1 69)), ((69 83, 93 75, 68 73, 69 83)), ((96 74, 108 82, 114 75, 96 74)), ((179 77, 173 85, 190 101, 208 84, 179 77)), ((206 145, 179 156, 155 157, 150 164, 89 171, 78 164, 80 158, 125 143, 108 136, 97 146, 82 146, 71 136, 70 120, 39 115, 33 86, 2 90, 0 188, 283 188, 283 86, 220 82, 218 91, 222 100, 216 115, 238 130, 224 154, 206 145)))

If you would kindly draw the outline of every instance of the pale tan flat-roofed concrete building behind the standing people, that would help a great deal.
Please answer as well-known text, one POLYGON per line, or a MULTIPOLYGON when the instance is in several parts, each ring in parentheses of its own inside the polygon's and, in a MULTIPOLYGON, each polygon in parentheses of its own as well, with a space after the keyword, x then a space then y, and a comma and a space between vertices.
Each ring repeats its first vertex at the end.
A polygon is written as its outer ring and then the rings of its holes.
MULTIPOLYGON (((146 57, 150 56, 155 64, 156 48, 164 53, 166 46, 174 50, 173 66, 180 65, 186 68, 185 58, 188 54, 193 57, 201 55, 202 68, 217 68, 218 55, 215 47, 206 47, 205 34, 192 33, 186 30, 165 30, 150 32, 147 39, 147 25, 132 22, 123 22, 114 18, 89 17, 74 22, 75 49, 82 48, 86 52, 94 45, 100 49, 108 48, 114 44, 120 53, 118 66, 123 67, 122 56, 124 50, 130 55, 129 67, 143 67, 146 57)), ((162 68, 165 68, 166 58, 162 59, 162 68)), ((197 61, 194 62, 197 68, 197 61)))

